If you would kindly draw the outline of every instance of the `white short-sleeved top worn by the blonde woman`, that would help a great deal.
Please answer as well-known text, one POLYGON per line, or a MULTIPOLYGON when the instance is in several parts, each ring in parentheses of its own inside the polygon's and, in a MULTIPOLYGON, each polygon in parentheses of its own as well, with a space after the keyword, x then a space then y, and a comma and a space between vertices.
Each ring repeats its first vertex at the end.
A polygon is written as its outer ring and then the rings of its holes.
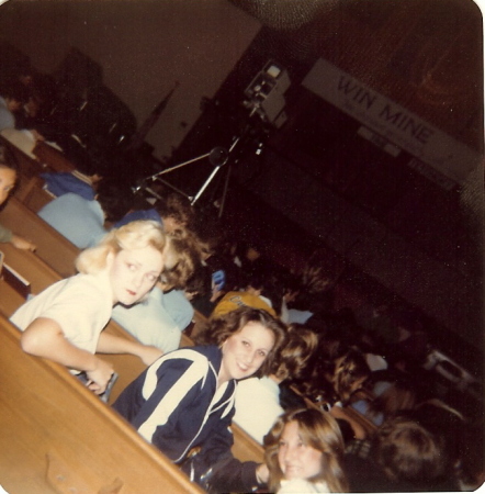
POLYGON ((54 319, 70 344, 94 353, 112 308, 113 293, 105 272, 76 274, 24 303, 10 321, 24 330, 37 317, 54 319))

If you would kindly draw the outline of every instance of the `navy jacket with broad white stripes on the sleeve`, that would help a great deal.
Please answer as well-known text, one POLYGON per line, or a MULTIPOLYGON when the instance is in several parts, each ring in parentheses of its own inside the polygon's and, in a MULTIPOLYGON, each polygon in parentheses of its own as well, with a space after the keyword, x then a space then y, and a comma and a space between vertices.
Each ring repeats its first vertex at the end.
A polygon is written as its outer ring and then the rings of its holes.
POLYGON ((221 361, 216 346, 167 353, 133 381, 113 407, 176 463, 200 447, 203 473, 233 446, 236 381, 217 390, 221 361))

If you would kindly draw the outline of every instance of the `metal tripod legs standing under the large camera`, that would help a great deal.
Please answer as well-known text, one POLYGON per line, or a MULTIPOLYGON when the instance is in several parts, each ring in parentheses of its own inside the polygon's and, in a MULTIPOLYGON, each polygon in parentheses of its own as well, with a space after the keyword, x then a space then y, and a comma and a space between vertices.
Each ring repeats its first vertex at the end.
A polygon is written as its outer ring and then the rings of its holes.
MULTIPOLYGON (((236 137, 228 150, 225 149, 224 147, 214 147, 213 149, 211 149, 208 153, 206 153, 204 155, 198 156, 196 158, 189 159, 179 165, 174 165, 170 168, 167 168, 167 169, 158 171, 157 173, 154 173, 149 177, 146 177, 145 179, 142 180, 140 184, 134 189, 135 193, 142 189, 145 189, 147 192, 153 194, 155 198, 162 199, 156 191, 154 191, 150 187, 147 186, 147 182, 154 182, 154 181, 158 180, 158 181, 162 182, 163 184, 166 184, 167 187, 169 187, 170 189, 174 190, 176 192, 178 192, 178 193, 182 194, 183 197, 185 197, 187 199, 189 199, 191 205, 194 205, 199 201, 201 195, 204 193, 204 191, 208 187, 208 184, 212 182, 214 177, 227 164, 227 161, 229 160, 230 154, 236 148, 239 139, 240 139, 240 137, 236 137), (177 187, 169 183, 167 180, 163 180, 162 178, 160 178, 162 175, 169 173, 170 171, 177 170, 177 169, 185 167, 188 165, 192 165, 193 162, 201 161, 202 159, 206 159, 206 158, 208 158, 208 161, 214 167, 214 169, 211 171, 211 173, 208 175, 208 177, 206 178, 204 183, 201 186, 201 188, 194 195, 187 194, 182 190, 180 190, 177 187)), ((229 186, 229 177, 230 177, 230 166, 232 166, 232 164, 229 164, 229 167, 228 167, 227 173, 226 173, 226 179, 224 182, 223 197, 222 197, 219 212, 218 212, 219 217, 223 215, 224 205, 226 202, 226 194, 227 194, 227 189, 229 186)))

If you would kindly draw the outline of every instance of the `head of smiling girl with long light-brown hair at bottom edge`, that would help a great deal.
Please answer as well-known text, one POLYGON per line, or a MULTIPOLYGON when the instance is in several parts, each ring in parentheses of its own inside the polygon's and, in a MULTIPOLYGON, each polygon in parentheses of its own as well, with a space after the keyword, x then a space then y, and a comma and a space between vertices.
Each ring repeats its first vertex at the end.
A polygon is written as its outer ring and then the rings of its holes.
POLYGON ((330 414, 315 408, 286 412, 264 437, 270 492, 292 480, 324 483, 328 492, 346 492, 342 457, 343 439, 330 414))

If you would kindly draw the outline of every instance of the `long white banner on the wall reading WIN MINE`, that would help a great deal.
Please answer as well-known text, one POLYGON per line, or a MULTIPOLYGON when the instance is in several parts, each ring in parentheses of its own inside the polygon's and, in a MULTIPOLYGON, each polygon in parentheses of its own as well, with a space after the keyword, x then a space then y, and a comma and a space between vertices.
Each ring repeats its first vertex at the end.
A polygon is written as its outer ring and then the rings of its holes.
POLYGON ((303 86, 456 183, 482 162, 478 153, 327 60, 317 60, 303 86))

